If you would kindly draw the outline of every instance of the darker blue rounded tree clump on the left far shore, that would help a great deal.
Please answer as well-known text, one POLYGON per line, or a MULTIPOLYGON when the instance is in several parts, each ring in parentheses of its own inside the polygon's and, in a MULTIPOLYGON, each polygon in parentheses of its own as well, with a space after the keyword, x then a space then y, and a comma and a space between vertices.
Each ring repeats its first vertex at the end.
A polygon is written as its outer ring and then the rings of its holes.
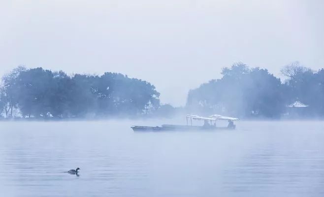
POLYGON ((103 75, 17 67, 2 77, 0 114, 71 118, 137 115, 160 107, 160 93, 147 81, 119 73, 103 75))

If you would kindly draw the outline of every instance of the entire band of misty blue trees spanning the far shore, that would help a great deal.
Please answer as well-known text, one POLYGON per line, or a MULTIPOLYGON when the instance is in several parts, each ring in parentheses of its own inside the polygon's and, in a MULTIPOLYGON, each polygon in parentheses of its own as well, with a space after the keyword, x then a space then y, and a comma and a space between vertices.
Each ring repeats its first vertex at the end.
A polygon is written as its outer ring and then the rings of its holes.
MULTIPOLYGON (((267 69, 236 63, 222 77, 190 90, 185 108, 160 103, 160 93, 147 81, 120 73, 74 74, 17 67, 2 77, 0 116, 87 118, 176 113, 223 114, 239 118, 279 118, 299 100, 307 116, 324 116, 324 69, 298 62, 281 70, 285 81, 267 69)), ((303 113, 304 113, 303 112, 303 113)))

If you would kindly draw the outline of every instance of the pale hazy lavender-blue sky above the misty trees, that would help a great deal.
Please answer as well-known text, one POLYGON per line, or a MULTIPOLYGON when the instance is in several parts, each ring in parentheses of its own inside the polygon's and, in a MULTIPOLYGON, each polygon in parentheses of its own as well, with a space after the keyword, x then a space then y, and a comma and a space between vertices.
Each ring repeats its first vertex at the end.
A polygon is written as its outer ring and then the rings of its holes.
POLYGON ((121 72, 184 105, 235 62, 324 67, 323 0, 0 0, 0 75, 121 72))

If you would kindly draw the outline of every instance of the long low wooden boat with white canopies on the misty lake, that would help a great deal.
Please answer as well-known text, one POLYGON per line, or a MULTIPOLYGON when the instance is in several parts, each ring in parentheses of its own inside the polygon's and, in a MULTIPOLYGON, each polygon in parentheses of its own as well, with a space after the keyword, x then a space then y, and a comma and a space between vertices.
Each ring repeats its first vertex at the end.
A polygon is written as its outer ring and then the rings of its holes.
POLYGON ((147 126, 131 126, 130 128, 133 131, 214 131, 214 130, 234 130, 235 125, 233 123, 234 120, 238 120, 238 118, 232 118, 221 115, 211 115, 209 117, 202 117, 197 115, 187 115, 187 125, 162 125, 161 127, 147 127, 147 126), (191 121, 191 125, 188 125, 188 119, 191 121), (193 126, 193 120, 203 120, 203 126, 193 126), (216 127, 217 120, 227 120, 227 127, 216 127), (215 121, 213 125, 212 122, 215 121), (210 122, 210 124, 209 124, 210 122))

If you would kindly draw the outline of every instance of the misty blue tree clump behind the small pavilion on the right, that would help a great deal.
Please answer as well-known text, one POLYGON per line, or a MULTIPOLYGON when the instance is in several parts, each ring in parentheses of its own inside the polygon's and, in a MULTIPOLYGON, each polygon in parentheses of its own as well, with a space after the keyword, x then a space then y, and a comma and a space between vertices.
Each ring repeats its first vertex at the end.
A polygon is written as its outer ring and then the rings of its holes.
POLYGON ((189 92, 187 109, 205 114, 279 118, 287 105, 300 100, 309 105, 307 115, 324 116, 324 69, 313 71, 294 62, 281 72, 287 80, 243 63, 225 67, 221 79, 189 92))

